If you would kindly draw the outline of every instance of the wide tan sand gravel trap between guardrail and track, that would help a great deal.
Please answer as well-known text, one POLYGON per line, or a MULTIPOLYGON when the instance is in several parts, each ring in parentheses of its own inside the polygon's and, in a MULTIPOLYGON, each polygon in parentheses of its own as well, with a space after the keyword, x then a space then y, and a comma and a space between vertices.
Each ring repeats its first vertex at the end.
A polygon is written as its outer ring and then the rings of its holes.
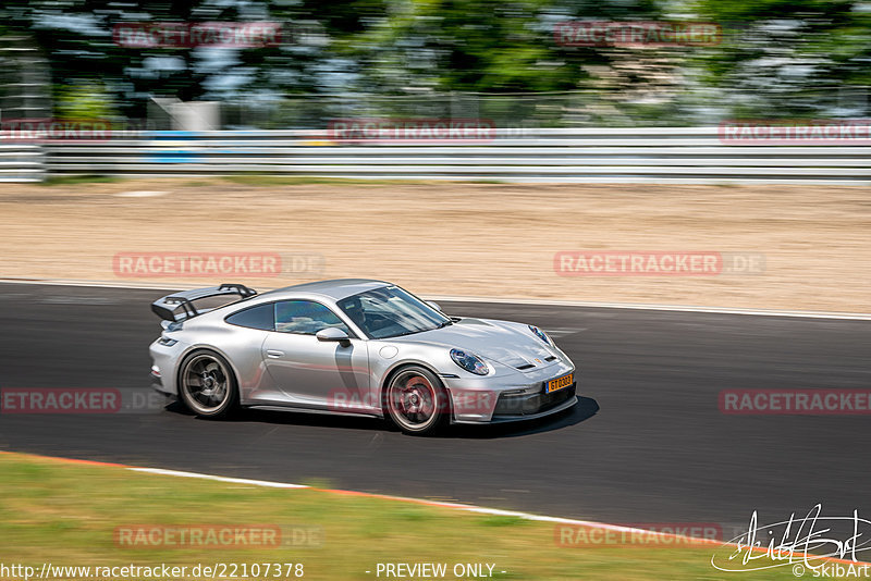
POLYGON ((871 312, 871 188, 510 184, 250 186, 222 180, 0 185, 2 277, 149 284, 326 277, 425 295, 871 312), (127 191, 161 196, 119 197, 127 191), (764 272, 560 276, 554 255, 764 256, 764 272), (259 252, 296 272, 120 272, 118 256, 259 252))

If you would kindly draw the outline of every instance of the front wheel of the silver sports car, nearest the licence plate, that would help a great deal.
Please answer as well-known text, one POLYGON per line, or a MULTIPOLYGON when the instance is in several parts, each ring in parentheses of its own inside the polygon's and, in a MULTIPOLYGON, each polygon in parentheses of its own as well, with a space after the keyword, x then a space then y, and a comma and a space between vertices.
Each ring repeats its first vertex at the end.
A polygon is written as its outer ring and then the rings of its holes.
POLYGON ((407 367, 396 373, 390 380, 385 399, 390 418, 407 434, 431 434, 450 416, 447 393, 439 379, 422 367, 407 367))

